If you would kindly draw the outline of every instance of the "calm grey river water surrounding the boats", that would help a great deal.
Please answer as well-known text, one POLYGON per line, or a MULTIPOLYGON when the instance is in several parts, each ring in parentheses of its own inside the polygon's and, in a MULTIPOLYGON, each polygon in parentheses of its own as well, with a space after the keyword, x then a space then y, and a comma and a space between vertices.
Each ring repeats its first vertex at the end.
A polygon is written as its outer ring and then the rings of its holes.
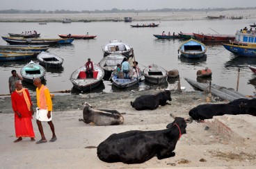
MULTIPOLYGON (((119 39, 127 42, 134 48, 135 59, 141 69, 149 64, 159 64, 164 69, 170 71, 177 69, 179 71, 180 82, 186 91, 193 91, 193 87, 184 80, 191 78, 196 80, 196 72, 208 67, 212 71, 211 82, 224 87, 237 88, 238 69, 240 68, 239 92, 252 95, 256 87, 256 75, 248 69, 248 64, 256 65, 256 58, 237 57, 225 50, 221 44, 207 44, 207 57, 200 60, 189 60, 179 57, 177 50, 179 45, 184 42, 182 39, 157 39, 153 34, 161 34, 163 30, 168 33, 211 33, 234 35, 237 30, 253 24, 255 19, 190 19, 186 21, 133 21, 132 23, 95 21, 95 22, 72 22, 71 24, 62 24, 61 22, 49 22, 46 25, 39 25, 38 22, 0 22, 0 35, 8 33, 22 33, 27 30, 37 30, 41 33, 41 38, 58 38, 58 34, 86 34, 97 35, 95 39, 75 39, 70 45, 55 46, 49 48, 50 53, 64 58, 63 68, 47 69, 46 84, 50 91, 64 91, 72 89, 70 75, 86 62, 88 57, 93 62, 99 62, 103 57, 102 46, 110 40, 119 39), (156 28, 131 28, 130 24, 152 23, 160 24, 156 28)), ((7 44, 0 39, 0 44, 7 44)), ((36 57, 32 60, 36 61, 36 57)), ((8 94, 8 77, 10 71, 16 69, 17 72, 22 69, 27 62, 0 62, 0 94, 8 94)), ((35 91, 33 84, 23 83, 31 92, 35 91)), ((141 90, 156 87, 146 82, 141 82, 139 87, 133 87, 128 90, 141 90)), ((168 80, 170 89, 177 87, 177 79, 168 80)), ((117 92, 120 89, 112 87, 111 82, 104 81, 99 89, 93 92, 117 92)))

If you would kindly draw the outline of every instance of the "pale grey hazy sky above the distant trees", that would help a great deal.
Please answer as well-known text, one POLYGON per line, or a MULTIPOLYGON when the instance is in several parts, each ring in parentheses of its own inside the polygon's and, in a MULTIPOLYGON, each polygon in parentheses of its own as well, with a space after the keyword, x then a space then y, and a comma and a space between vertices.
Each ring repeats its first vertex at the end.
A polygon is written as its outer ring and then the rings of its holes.
POLYGON ((152 10, 256 7, 255 0, 0 0, 0 10, 152 10))

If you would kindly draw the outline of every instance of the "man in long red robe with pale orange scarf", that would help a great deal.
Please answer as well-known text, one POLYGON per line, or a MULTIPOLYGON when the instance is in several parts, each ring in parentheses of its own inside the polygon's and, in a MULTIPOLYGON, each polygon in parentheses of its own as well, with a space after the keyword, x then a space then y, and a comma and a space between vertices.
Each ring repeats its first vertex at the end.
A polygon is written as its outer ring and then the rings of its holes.
POLYGON ((15 82, 15 91, 11 94, 13 111, 15 112, 15 133, 17 143, 22 141, 22 137, 30 137, 31 141, 35 141, 35 133, 31 119, 34 114, 31 97, 28 89, 22 87, 22 82, 15 82))

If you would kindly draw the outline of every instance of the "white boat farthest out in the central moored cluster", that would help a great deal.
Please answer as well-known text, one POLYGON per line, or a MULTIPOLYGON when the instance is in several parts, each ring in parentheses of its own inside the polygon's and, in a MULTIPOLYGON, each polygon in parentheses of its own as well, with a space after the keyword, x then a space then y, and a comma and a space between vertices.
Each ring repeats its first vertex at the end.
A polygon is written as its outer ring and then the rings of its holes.
POLYGON ((102 51, 104 53, 104 56, 109 55, 111 53, 121 53, 122 55, 125 55, 128 57, 131 54, 131 46, 129 44, 124 43, 120 40, 112 40, 108 44, 105 44, 102 46, 102 51), (118 46, 119 50, 116 51, 115 47, 118 46))

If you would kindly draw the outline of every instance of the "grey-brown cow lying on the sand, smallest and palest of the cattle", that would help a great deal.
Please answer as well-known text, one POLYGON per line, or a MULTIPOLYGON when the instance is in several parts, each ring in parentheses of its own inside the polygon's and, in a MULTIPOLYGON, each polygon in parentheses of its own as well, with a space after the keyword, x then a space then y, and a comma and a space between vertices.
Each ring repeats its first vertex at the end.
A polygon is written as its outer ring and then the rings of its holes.
POLYGON ((84 123, 95 123, 95 125, 120 125, 124 123, 124 117, 116 110, 91 109, 88 103, 83 105, 84 123))

